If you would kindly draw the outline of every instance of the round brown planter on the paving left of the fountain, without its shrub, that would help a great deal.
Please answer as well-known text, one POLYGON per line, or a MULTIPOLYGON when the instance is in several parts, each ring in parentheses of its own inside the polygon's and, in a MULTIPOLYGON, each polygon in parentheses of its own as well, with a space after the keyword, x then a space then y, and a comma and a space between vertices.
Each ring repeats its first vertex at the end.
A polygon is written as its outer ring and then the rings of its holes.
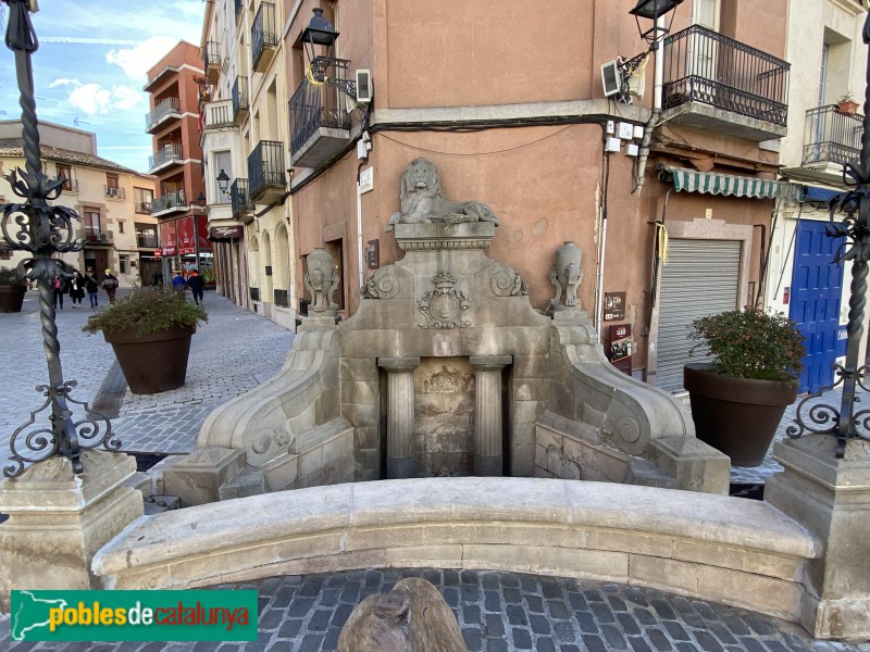
POLYGON ((103 333, 133 393, 150 394, 176 389, 187 376, 190 337, 196 327, 175 326, 153 335, 138 335, 128 328, 103 333))

